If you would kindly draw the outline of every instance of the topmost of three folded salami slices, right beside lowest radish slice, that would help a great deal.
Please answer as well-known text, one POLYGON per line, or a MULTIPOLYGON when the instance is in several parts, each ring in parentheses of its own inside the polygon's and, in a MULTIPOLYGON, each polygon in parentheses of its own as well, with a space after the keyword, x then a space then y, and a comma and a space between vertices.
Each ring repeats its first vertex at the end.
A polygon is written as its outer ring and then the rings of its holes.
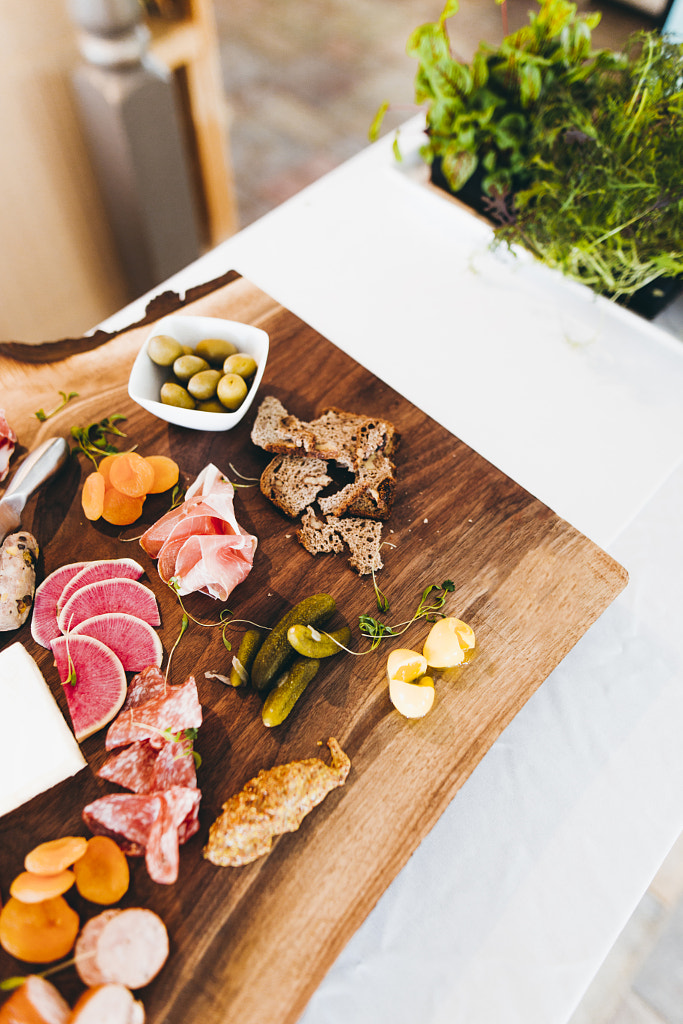
POLYGON ((153 745, 161 746, 167 738, 166 730, 177 733, 199 729, 201 724, 197 683, 189 676, 180 686, 169 686, 164 695, 122 712, 110 726, 104 745, 112 751, 136 739, 150 739, 153 745))

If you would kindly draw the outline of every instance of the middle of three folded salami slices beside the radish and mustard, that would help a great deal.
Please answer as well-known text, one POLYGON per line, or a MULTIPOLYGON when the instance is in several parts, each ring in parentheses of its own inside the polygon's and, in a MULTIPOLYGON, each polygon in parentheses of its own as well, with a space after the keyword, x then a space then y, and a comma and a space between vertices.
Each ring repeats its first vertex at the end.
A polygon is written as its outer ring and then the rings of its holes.
POLYGON ((133 793, 156 793, 172 785, 197 787, 197 769, 191 742, 182 739, 160 749, 143 739, 113 754, 97 772, 133 793))

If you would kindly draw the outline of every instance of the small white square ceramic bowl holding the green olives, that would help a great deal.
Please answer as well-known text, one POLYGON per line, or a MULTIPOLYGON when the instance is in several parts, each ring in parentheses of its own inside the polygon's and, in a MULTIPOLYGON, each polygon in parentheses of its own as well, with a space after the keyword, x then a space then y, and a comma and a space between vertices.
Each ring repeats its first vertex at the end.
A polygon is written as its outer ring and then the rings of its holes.
POLYGON ((269 338, 265 331, 249 324, 217 316, 183 316, 180 313, 164 316, 155 324, 137 353, 128 379, 128 394, 153 416, 178 427, 189 427, 191 430, 230 430, 240 423, 254 400, 268 358, 268 345, 269 338), (203 338, 222 338, 233 342, 241 352, 252 355, 258 370, 240 408, 233 413, 203 413, 196 409, 165 406, 159 393, 164 381, 171 377, 170 368, 158 367, 147 355, 150 339, 158 334, 167 334, 181 345, 189 345, 191 348, 203 338))

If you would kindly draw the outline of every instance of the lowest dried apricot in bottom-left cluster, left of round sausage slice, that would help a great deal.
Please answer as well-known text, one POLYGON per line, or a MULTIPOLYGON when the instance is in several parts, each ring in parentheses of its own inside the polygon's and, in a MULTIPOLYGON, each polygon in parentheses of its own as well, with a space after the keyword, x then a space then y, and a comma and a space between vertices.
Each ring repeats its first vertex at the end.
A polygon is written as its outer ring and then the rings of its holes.
POLYGON ((0 910, 0 945, 16 959, 49 964, 71 951, 79 925, 63 896, 40 903, 22 903, 10 896, 0 910))

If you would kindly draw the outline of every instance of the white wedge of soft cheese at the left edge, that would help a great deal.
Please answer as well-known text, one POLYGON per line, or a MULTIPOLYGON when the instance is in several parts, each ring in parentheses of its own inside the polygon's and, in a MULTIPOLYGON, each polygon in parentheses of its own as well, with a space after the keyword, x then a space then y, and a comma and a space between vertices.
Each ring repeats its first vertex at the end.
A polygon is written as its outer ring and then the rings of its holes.
POLYGON ((87 762, 43 674, 20 643, 0 651, 0 815, 87 762))

